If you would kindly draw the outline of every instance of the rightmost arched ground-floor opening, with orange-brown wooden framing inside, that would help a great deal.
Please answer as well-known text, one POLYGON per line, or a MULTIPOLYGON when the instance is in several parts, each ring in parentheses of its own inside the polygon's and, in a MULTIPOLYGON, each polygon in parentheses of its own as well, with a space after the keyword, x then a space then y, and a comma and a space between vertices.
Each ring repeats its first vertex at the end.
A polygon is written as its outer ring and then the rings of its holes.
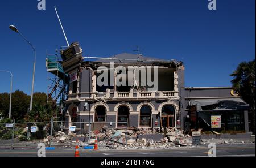
POLYGON ((172 105, 165 105, 162 107, 162 126, 174 127, 175 107, 172 105))

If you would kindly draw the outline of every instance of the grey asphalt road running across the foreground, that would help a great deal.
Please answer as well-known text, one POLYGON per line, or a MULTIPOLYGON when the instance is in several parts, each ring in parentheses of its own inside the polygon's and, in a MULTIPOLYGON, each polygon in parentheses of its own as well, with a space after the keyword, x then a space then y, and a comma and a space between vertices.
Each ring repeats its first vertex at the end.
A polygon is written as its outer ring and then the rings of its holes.
MULTIPOLYGON (((37 157, 38 149, 0 149, 0 157, 37 157)), ((99 150, 79 149, 80 157, 208 157, 209 148, 99 150)), ((46 157, 73 157, 74 149, 47 150, 46 157)), ((255 157, 255 144, 217 145, 217 157, 255 157)))

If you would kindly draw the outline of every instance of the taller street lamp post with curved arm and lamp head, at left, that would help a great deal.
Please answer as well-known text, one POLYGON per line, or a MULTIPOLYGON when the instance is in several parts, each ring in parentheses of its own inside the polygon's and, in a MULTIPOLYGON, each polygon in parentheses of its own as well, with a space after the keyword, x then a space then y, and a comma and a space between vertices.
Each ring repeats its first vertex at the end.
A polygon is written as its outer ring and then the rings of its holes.
POLYGON ((14 31, 19 33, 20 36, 22 36, 24 38, 25 41, 28 42, 28 44, 32 47, 32 49, 34 50, 34 54, 35 54, 35 60, 34 60, 34 66, 33 66, 33 77, 32 77, 32 88, 31 88, 31 98, 30 98, 30 111, 32 110, 32 104, 33 104, 33 94, 34 94, 34 81, 35 81, 35 64, 36 64, 36 50, 34 48, 34 46, 32 46, 32 44, 27 40, 26 37, 24 37, 22 35, 22 33, 20 33, 18 31, 18 29, 14 26, 14 25, 10 25, 9 28, 14 31))

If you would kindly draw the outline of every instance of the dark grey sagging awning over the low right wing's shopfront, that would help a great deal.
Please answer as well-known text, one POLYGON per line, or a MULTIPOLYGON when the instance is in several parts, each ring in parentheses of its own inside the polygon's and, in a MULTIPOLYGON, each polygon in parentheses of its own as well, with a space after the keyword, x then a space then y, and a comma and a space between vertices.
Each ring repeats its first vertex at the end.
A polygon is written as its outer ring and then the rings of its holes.
POLYGON ((196 105, 197 111, 248 110, 249 105, 241 98, 193 99, 189 105, 196 105))

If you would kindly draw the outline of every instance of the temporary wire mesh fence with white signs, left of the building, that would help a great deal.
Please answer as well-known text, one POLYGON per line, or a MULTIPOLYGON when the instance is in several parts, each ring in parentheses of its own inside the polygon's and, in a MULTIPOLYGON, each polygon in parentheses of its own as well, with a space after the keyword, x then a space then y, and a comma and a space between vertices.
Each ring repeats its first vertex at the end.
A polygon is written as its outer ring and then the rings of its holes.
POLYGON ((127 122, 24 122, 0 123, 0 148, 37 147, 39 143, 46 146, 80 146, 108 145, 114 141, 127 145, 127 122), (122 125, 118 129, 116 126, 122 125), (118 131, 119 130, 119 131, 118 131))

